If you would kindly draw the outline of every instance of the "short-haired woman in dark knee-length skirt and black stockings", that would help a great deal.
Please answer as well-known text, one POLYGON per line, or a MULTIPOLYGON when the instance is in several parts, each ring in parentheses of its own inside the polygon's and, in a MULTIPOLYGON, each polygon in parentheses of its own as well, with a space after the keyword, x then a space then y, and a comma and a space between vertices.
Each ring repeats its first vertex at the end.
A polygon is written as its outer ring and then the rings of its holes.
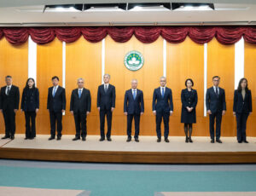
POLYGON ((195 107, 197 104, 197 92, 192 89, 194 82, 192 79, 187 79, 185 82, 186 89, 182 90, 181 101, 182 101, 182 116, 181 123, 184 124, 184 131, 186 135, 186 142, 193 142, 191 139, 192 135, 192 124, 196 123, 195 107))

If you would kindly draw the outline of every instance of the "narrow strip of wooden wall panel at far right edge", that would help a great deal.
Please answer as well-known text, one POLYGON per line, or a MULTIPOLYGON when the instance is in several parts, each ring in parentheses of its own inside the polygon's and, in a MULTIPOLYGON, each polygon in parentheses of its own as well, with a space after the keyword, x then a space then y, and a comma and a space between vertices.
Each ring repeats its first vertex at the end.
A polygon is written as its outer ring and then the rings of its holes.
POLYGON ((256 46, 245 43, 244 74, 248 80, 248 88, 252 90, 253 113, 247 121, 247 136, 256 136, 256 46))

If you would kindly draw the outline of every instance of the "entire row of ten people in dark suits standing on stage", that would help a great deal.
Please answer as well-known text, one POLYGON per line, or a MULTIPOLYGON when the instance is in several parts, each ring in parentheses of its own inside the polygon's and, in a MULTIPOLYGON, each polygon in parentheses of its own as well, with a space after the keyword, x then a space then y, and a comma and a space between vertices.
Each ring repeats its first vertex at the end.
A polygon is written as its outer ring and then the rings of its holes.
MULTIPOLYGON (((15 139, 15 113, 19 108, 20 92, 19 88, 12 84, 12 78, 5 78, 6 86, 1 89, 0 111, 3 112, 5 122, 5 135, 2 139, 15 139)), ((112 113, 115 108, 115 87, 109 84, 110 75, 105 74, 103 77, 104 84, 98 87, 97 91, 97 109, 100 113, 100 141, 106 138, 111 139, 112 113), (107 116, 108 131, 105 137, 105 117, 107 116)), ((214 124, 216 120, 216 141, 220 140, 222 116, 226 112, 226 101, 224 89, 218 87, 220 78, 215 76, 212 78, 213 86, 207 89, 206 106, 210 119, 210 135, 211 142, 215 142, 214 124)), ((50 118, 50 137, 49 140, 55 139, 57 130, 57 140, 61 140, 62 131, 62 113, 66 110, 66 93, 65 89, 59 86, 59 78, 52 78, 53 86, 49 88, 47 109, 50 118), (57 126, 55 126, 57 124, 57 126), (57 129, 55 129, 57 127, 57 129)), ((195 108, 197 105, 197 91, 193 89, 194 82, 192 79, 185 81, 186 89, 182 90, 182 115, 181 123, 184 124, 184 132, 186 142, 193 142, 192 124, 196 123, 195 108)), ((84 88, 84 79, 78 79, 78 89, 73 89, 70 101, 70 112, 73 114, 76 135, 73 141, 86 140, 87 127, 86 118, 90 114, 91 98, 90 90, 84 88)), ((35 88, 33 78, 28 78, 26 88, 23 89, 21 98, 21 112, 25 112, 26 118, 26 138, 33 139, 36 136, 35 118, 39 109, 39 91, 35 88)), ((160 78, 160 87, 154 89, 153 113, 156 120, 157 142, 161 141, 161 121, 164 121, 164 138, 169 142, 169 118, 173 113, 172 89, 166 87, 166 78, 160 78)), ((138 140, 140 129, 140 117, 144 112, 143 91, 137 89, 137 79, 131 81, 131 89, 125 91, 124 112, 127 116, 127 142, 131 141, 131 124, 135 121, 135 141, 138 140)), ((247 88, 247 79, 241 78, 238 88, 234 93, 233 113, 236 116, 237 141, 239 143, 248 142, 246 139, 247 118, 252 112, 252 95, 247 88)))

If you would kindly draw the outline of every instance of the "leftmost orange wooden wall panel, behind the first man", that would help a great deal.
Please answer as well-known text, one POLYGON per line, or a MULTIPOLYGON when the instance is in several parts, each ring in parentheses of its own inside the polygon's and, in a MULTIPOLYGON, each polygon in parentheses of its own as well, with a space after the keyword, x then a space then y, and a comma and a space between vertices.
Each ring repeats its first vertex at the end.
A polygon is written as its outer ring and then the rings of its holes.
MULTIPOLYGON (((21 93, 26 84, 27 64, 28 64, 28 44, 20 46, 11 45, 5 37, 0 40, 0 86, 5 86, 5 76, 10 75, 13 78, 13 84, 20 88, 21 93)), ((16 133, 25 134, 24 113, 19 111, 16 114, 16 133)), ((0 133, 5 133, 3 115, 0 115, 0 133)))

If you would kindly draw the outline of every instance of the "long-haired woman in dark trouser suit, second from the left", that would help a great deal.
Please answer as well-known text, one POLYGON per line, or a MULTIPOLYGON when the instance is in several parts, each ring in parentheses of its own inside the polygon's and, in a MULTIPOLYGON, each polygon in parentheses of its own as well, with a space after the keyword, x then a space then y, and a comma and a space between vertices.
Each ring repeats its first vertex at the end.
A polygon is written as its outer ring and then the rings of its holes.
POLYGON ((38 88, 35 87, 35 80, 33 78, 28 78, 21 98, 21 112, 25 112, 26 119, 25 140, 32 140, 36 136, 36 115, 38 110, 39 91, 38 88))

